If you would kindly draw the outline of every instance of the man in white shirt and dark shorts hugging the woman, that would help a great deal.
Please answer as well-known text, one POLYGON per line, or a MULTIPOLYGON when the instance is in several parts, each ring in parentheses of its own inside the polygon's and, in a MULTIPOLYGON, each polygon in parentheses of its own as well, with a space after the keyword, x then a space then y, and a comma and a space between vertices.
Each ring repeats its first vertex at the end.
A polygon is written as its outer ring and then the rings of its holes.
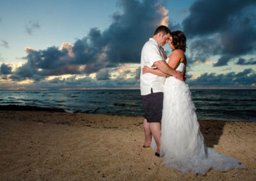
MULTIPOLYGON (((141 69, 143 66, 158 68, 166 74, 179 80, 184 80, 180 71, 175 71, 166 63, 166 54, 163 50, 165 43, 170 40, 171 31, 161 25, 157 27, 154 36, 150 38, 141 50, 141 69)), ((151 73, 140 75, 140 89, 145 113, 143 127, 145 131, 145 143, 143 147, 150 147, 152 135, 157 145, 156 156, 160 154, 161 119, 163 110, 163 85, 165 76, 157 76, 151 73)))

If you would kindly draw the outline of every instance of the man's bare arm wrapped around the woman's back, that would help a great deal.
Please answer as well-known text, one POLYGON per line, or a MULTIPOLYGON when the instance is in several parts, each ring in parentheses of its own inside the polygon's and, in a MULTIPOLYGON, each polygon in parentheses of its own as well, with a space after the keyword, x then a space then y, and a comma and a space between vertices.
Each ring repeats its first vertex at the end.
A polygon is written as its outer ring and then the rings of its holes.
POLYGON ((165 61, 156 61, 154 62, 154 66, 156 66, 159 70, 163 71, 163 73, 166 73, 168 75, 172 75, 178 80, 184 81, 183 76, 181 75, 180 71, 175 71, 165 61))

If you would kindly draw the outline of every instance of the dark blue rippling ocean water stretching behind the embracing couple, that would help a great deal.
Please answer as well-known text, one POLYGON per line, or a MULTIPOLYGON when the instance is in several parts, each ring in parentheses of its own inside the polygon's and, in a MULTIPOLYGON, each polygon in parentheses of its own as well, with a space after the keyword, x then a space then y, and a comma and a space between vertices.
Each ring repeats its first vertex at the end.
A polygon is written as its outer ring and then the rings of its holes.
MULTIPOLYGON (((256 90, 191 90, 198 119, 256 122, 256 90)), ((0 91, 0 105, 143 116, 140 90, 0 91)))

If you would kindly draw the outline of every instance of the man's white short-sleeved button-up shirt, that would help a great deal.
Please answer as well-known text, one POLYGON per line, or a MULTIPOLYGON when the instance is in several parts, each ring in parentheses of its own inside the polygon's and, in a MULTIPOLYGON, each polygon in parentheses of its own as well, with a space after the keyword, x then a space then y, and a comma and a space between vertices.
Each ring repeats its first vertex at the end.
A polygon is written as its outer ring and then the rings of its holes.
POLYGON ((165 61, 166 58, 163 48, 159 47, 153 38, 149 38, 141 50, 140 90, 142 96, 150 94, 151 88, 153 92, 163 92, 165 76, 158 76, 152 73, 142 74, 142 68, 143 66, 152 68, 154 67, 154 62, 165 61))

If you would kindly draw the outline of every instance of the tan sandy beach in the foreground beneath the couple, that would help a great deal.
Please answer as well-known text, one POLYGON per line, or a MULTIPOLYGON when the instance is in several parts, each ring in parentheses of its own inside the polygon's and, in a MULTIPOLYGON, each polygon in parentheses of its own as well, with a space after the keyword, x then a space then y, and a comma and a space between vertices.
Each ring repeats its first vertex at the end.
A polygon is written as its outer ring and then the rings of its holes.
POLYGON ((205 144, 245 170, 183 174, 143 148, 142 117, 0 111, 0 180, 256 180, 256 122, 199 120, 205 144))

